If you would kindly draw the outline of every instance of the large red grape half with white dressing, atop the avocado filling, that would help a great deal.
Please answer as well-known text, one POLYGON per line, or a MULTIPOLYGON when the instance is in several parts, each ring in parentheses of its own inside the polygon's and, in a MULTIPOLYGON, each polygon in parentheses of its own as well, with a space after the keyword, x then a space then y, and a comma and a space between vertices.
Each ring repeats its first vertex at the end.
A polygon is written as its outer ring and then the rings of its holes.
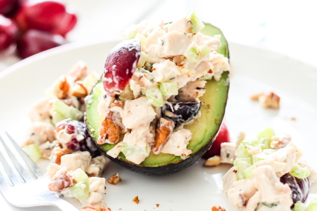
POLYGON ((120 42, 106 59, 103 87, 110 96, 121 94, 129 83, 141 55, 139 40, 120 42))

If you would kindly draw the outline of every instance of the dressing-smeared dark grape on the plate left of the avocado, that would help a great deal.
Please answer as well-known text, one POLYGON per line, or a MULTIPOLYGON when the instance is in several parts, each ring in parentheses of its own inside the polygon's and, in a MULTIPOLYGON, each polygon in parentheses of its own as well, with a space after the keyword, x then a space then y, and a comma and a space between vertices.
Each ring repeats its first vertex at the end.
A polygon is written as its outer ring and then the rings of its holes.
MULTIPOLYGON (((62 140, 63 144, 70 150, 88 151, 94 158, 100 155, 97 146, 91 139, 84 122, 66 119, 58 122, 55 129, 59 134, 71 134, 69 140, 62 140)), ((65 136, 63 136, 65 137, 65 136)))

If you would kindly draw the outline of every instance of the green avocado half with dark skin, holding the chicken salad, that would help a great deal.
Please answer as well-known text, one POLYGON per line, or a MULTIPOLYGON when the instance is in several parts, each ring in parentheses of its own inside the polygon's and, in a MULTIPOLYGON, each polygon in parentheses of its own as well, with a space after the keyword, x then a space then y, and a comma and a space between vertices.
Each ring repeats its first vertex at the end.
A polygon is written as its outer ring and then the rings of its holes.
MULTIPOLYGON (((217 51, 229 59, 228 43, 219 28, 205 23, 201 33, 209 36, 221 34, 221 47, 217 51)), ((117 158, 108 156, 107 151, 116 144, 97 144, 99 129, 104 117, 99 114, 99 97, 96 94, 94 95, 94 93, 91 93, 89 100, 86 102, 85 122, 88 132, 103 155, 131 171, 146 175, 167 175, 181 171, 201 158, 210 148, 217 135, 227 104, 229 91, 228 74, 228 72, 223 72, 219 81, 214 79, 207 81, 205 85, 206 92, 200 98, 202 101, 201 115, 193 123, 184 126, 185 129, 190 130, 192 133, 192 139, 187 145, 187 148, 192 153, 186 158, 165 153, 156 155, 151 151, 150 155, 141 164, 134 164, 126 160, 122 152, 117 158)), ((102 83, 102 81, 97 82, 97 84, 99 83, 102 83)), ((122 140, 123 134, 121 135, 120 139, 122 140)))

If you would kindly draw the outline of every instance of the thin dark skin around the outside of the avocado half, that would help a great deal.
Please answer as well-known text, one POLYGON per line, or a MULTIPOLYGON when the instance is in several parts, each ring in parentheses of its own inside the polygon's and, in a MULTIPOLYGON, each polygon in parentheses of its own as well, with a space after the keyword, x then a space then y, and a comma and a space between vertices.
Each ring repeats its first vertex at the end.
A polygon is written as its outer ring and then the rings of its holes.
MULTIPOLYGON (((212 30, 218 32, 217 34, 219 34, 219 33, 221 34, 221 36, 222 36, 222 40, 221 40, 222 47, 220 47, 221 49, 218 49, 218 52, 222 53, 225 57, 227 57, 229 59, 228 43, 227 43, 227 40, 225 40, 221 30, 219 28, 209 24, 209 23, 205 23, 205 26, 208 26, 209 28, 212 28, 212 30), (223 44, 225 44, 225 46, 223 44)), ((206 34, 206 33, 204 33, 204 34, 206 34)), ((207 33, 207 35, 208 35, 208 33, 207 33)), ((224 73, 224 74, 228 74, 228 73, 224 73)), ((211 147, 211 145, 212 145, 213 141, 215 140, 216 135, 217 135, 217 133, 219 131, 221 122, 223 120, 225 107, 226 107, 227 99, 228 99, 228 91, 229 91, 229 81, 228 81, 228 84, 227 84, 227 91, 226 91, 225 101, 224 101, 224 104, 223 104, 223 112, 222 112, 221 117, 217 119, 218 120, 218 124, 217 124, 217 128, 214 130, 214 133, 210 136, 209 141, 207 141, 198 151, 193 152, 192 154, 190 154, 186 159, 181 159, 181 160, 178 160, 176 162, 172 162, 172 163, 168 163, 168 164, 161 165, 161 166, 156 166, 156 167, 155 166, 151 166, 151 165, 134 164, 134 163, 132 163, 130 161, 127 161, 127 160, 125 160, 123 158, 120 158, 120 157, 112 158, 111 156, 107 155, 107 151, 101 145, 96 144, 96 146, 98 147, 99 151, 103 155, 108 157, 114 163, 116 163, 116 164, 118 164, 120 166, 123 166, 123 167, 125 167, 125 168, 127 168, 127 169, 129 169, 131 171, 140 173, 140 174, 160 176, 160 175, 168 175, 168 174, 171 174, 171 173, 176 173, 178 171, 181 171, 181 170, 191 166, 192 164, 196 163, 203 156, 203 154, 211 147)), ((87 108, 86 108, 86 115, 87 115, 87 108)), ((89 124, 88 124, 87 118, 85 118, 85 122, 86 122, 86 125, 88 127, 89 133, 91 133, 90 130, 89 130, 89 124)), ((92 135, 92 139, 94 140, 93 135, 92 135)), ((96 140, 94 140, 94 141, 96 142, 96 140)))

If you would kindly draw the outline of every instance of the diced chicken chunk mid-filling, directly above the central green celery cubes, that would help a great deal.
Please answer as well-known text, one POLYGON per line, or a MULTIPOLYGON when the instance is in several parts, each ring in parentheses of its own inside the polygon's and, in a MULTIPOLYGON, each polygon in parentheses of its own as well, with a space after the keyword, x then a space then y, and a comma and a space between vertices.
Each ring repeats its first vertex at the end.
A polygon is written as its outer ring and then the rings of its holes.
POLYGON ((170 60, 155 63, 152 69, 151 76, 154 77, 155 82, 170 81, 182 74, 180 67, 170 60))

